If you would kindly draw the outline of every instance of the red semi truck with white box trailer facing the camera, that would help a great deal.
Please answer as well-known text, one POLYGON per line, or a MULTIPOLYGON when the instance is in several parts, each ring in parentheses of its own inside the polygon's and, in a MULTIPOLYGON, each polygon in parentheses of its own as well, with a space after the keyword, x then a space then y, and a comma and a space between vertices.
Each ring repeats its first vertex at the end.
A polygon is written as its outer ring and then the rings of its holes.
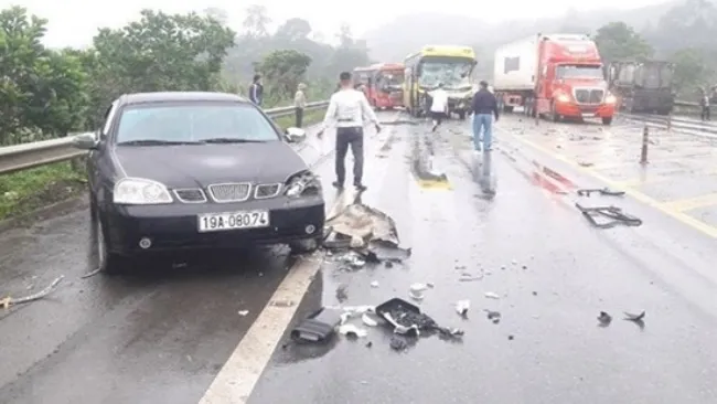
POLYGON ((598 46, 584 34, 537 34, 495 50, 493 91, 505 113, 610 125, 616 97, 608 91, 598 46))

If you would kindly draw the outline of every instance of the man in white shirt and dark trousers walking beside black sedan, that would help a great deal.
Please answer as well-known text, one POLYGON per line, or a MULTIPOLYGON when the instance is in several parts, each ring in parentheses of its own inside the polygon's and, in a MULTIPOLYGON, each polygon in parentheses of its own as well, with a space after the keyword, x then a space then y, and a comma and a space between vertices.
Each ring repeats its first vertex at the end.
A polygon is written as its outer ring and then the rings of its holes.
POLYGON ((365 191, 366 187, 361 182, 363 177, 364 164, 364 119, 372 121, 376 131, 381 131, 378 118, 368 105, 366 96, 353 88, 351 84, 351 73, 343 72, 339 75, 341 81, 341 89, 334 93, 329 100, 329 109, 323 118, 323 124, 317 135, 320 139, 323 137, 324 130, 330 125, 336 127, 336 146, 335 146, 335 170, 336 181, 333 185, 338 189, 343 189, 343 183, 346 178, 346 153, 349 146, 351 146, 351 153, 353 155, 353 184, 358 191, 365 191))

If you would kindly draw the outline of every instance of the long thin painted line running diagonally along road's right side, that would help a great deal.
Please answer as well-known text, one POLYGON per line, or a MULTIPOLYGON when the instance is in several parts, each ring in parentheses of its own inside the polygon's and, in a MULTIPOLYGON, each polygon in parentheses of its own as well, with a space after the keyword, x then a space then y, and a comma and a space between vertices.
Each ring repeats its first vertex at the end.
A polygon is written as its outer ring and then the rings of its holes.
POLYGON ((693 217, 693 216, 691 216, 691 215, 688 215, 686 213, 683 213, 683 212, 681 212, 681 211, 665 204, 664 202, 657 201, 654 198, 651 198, 651 196, 649 196, 649 195, 646 195, 646 194, 644 194, 644 193, 642 193, 642 192, 640 192, 640 191, 638 191, 638 190, 635 190, 633 188, 625 187, 623 183, 613 181, 610 178, 607 178, 606 176, 597 172, 593 169, 582 167, 579 163, 572 161, 571 159, 569 159, 569 158, 567 158, 565 156, 556 153, 553 150, 549 150, 549 149, 547 149, 547 148, 545 148, 545 147, 543 147, 541 145, 537 145, 537 143, 531 141, 531 140, 527 140, 527 139, 525 139, 525 138, 523 138, 521 136, 512 135, 510 131, 504 130, 504 129, 499 129, 499 130, 501 132, 503 132, 503 134, 512 136, 517 141, 520 141, 520 142, 522 142, 522 143, 524 143, 526 146, 529 146, 531 148, 533 148, 533 149, 535 149, 537 151, 541 151, 541 152, 543 152, 545 155, 548 155, 548 156, 555 158, 556 160, 571 167, 572 169, 575 169, 575 170, 577 170, 579 172, 591 176, 592 178, 606 183, 607 185, 609 185, 611 188, 624 191, 628 195, 632 196, 633 199, 635 199, 635 200, 638 200, 638 201, 640 201, 640 202, 642 202, 642 203, 644 203, 646 205, 650 205, 652 208, 657 209, 659 211, 667 214, 668 216, 679 221, 681 223, 683 223, 683 224, 685 224, 685 225, 687 225, 687 226, 689 226, 689 227, 692 227, 692 228, 694 228, 694 230, 696 230, 698 232, 702 232, 702 233, 704 233, 704 234, 706 234, 706 235, 708 235, 708 236, 710 236, 713 238, 717 238, 717 227, 715 227, 715 226, 711 226, 711 225, 709 225, 709 224, 707 224, 705 222, 702 222, 702 221, 699 221, 699 220, 697 220, 697 219, 695 219, 695 217, 693 217))

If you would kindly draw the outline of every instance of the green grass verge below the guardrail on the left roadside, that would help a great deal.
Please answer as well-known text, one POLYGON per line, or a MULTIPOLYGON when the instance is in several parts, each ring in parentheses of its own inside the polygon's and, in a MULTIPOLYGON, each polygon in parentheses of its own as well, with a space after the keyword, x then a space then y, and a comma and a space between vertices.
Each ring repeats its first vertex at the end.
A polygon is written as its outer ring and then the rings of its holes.
MULTIPOLYGON (((325 109, 307 111, 303 126, 321 121, 324 113, 325 109)), ((286 129, 295 125, 296 118, 289 115, 277 118, 276 123, 286 129)), ((68 200, 85 190, 84 170, 74 169, 69 161, 0 176, 0 221, 68 200)))

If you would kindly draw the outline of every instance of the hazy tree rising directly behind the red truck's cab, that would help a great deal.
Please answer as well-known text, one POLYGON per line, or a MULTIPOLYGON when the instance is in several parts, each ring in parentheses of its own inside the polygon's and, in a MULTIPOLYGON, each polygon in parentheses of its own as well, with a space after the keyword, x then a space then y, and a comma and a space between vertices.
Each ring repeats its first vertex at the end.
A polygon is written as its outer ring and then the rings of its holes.
POLYGON ((622 21, 610 22, 598 29, 595 38, 604 61, 644 61, 654 54, 652 46, 622 21))

